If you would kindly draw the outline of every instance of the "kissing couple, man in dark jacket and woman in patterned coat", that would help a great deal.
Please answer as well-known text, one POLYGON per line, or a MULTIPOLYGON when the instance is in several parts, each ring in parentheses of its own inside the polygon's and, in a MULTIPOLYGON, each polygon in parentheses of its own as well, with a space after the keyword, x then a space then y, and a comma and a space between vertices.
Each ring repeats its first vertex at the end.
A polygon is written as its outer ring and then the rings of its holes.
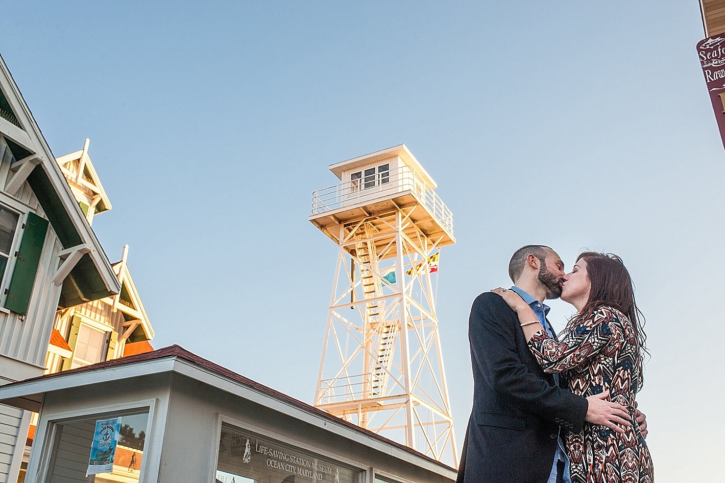
POLYGON ((621 259, 581 253, 565 274, 545 245, 519 248, 510 289, 481 293, 468 338, 473 411, 457 483, 652 483, 642 388, 644 317, 621 259), (572 304, 562 333, 545 299, 572 304))

